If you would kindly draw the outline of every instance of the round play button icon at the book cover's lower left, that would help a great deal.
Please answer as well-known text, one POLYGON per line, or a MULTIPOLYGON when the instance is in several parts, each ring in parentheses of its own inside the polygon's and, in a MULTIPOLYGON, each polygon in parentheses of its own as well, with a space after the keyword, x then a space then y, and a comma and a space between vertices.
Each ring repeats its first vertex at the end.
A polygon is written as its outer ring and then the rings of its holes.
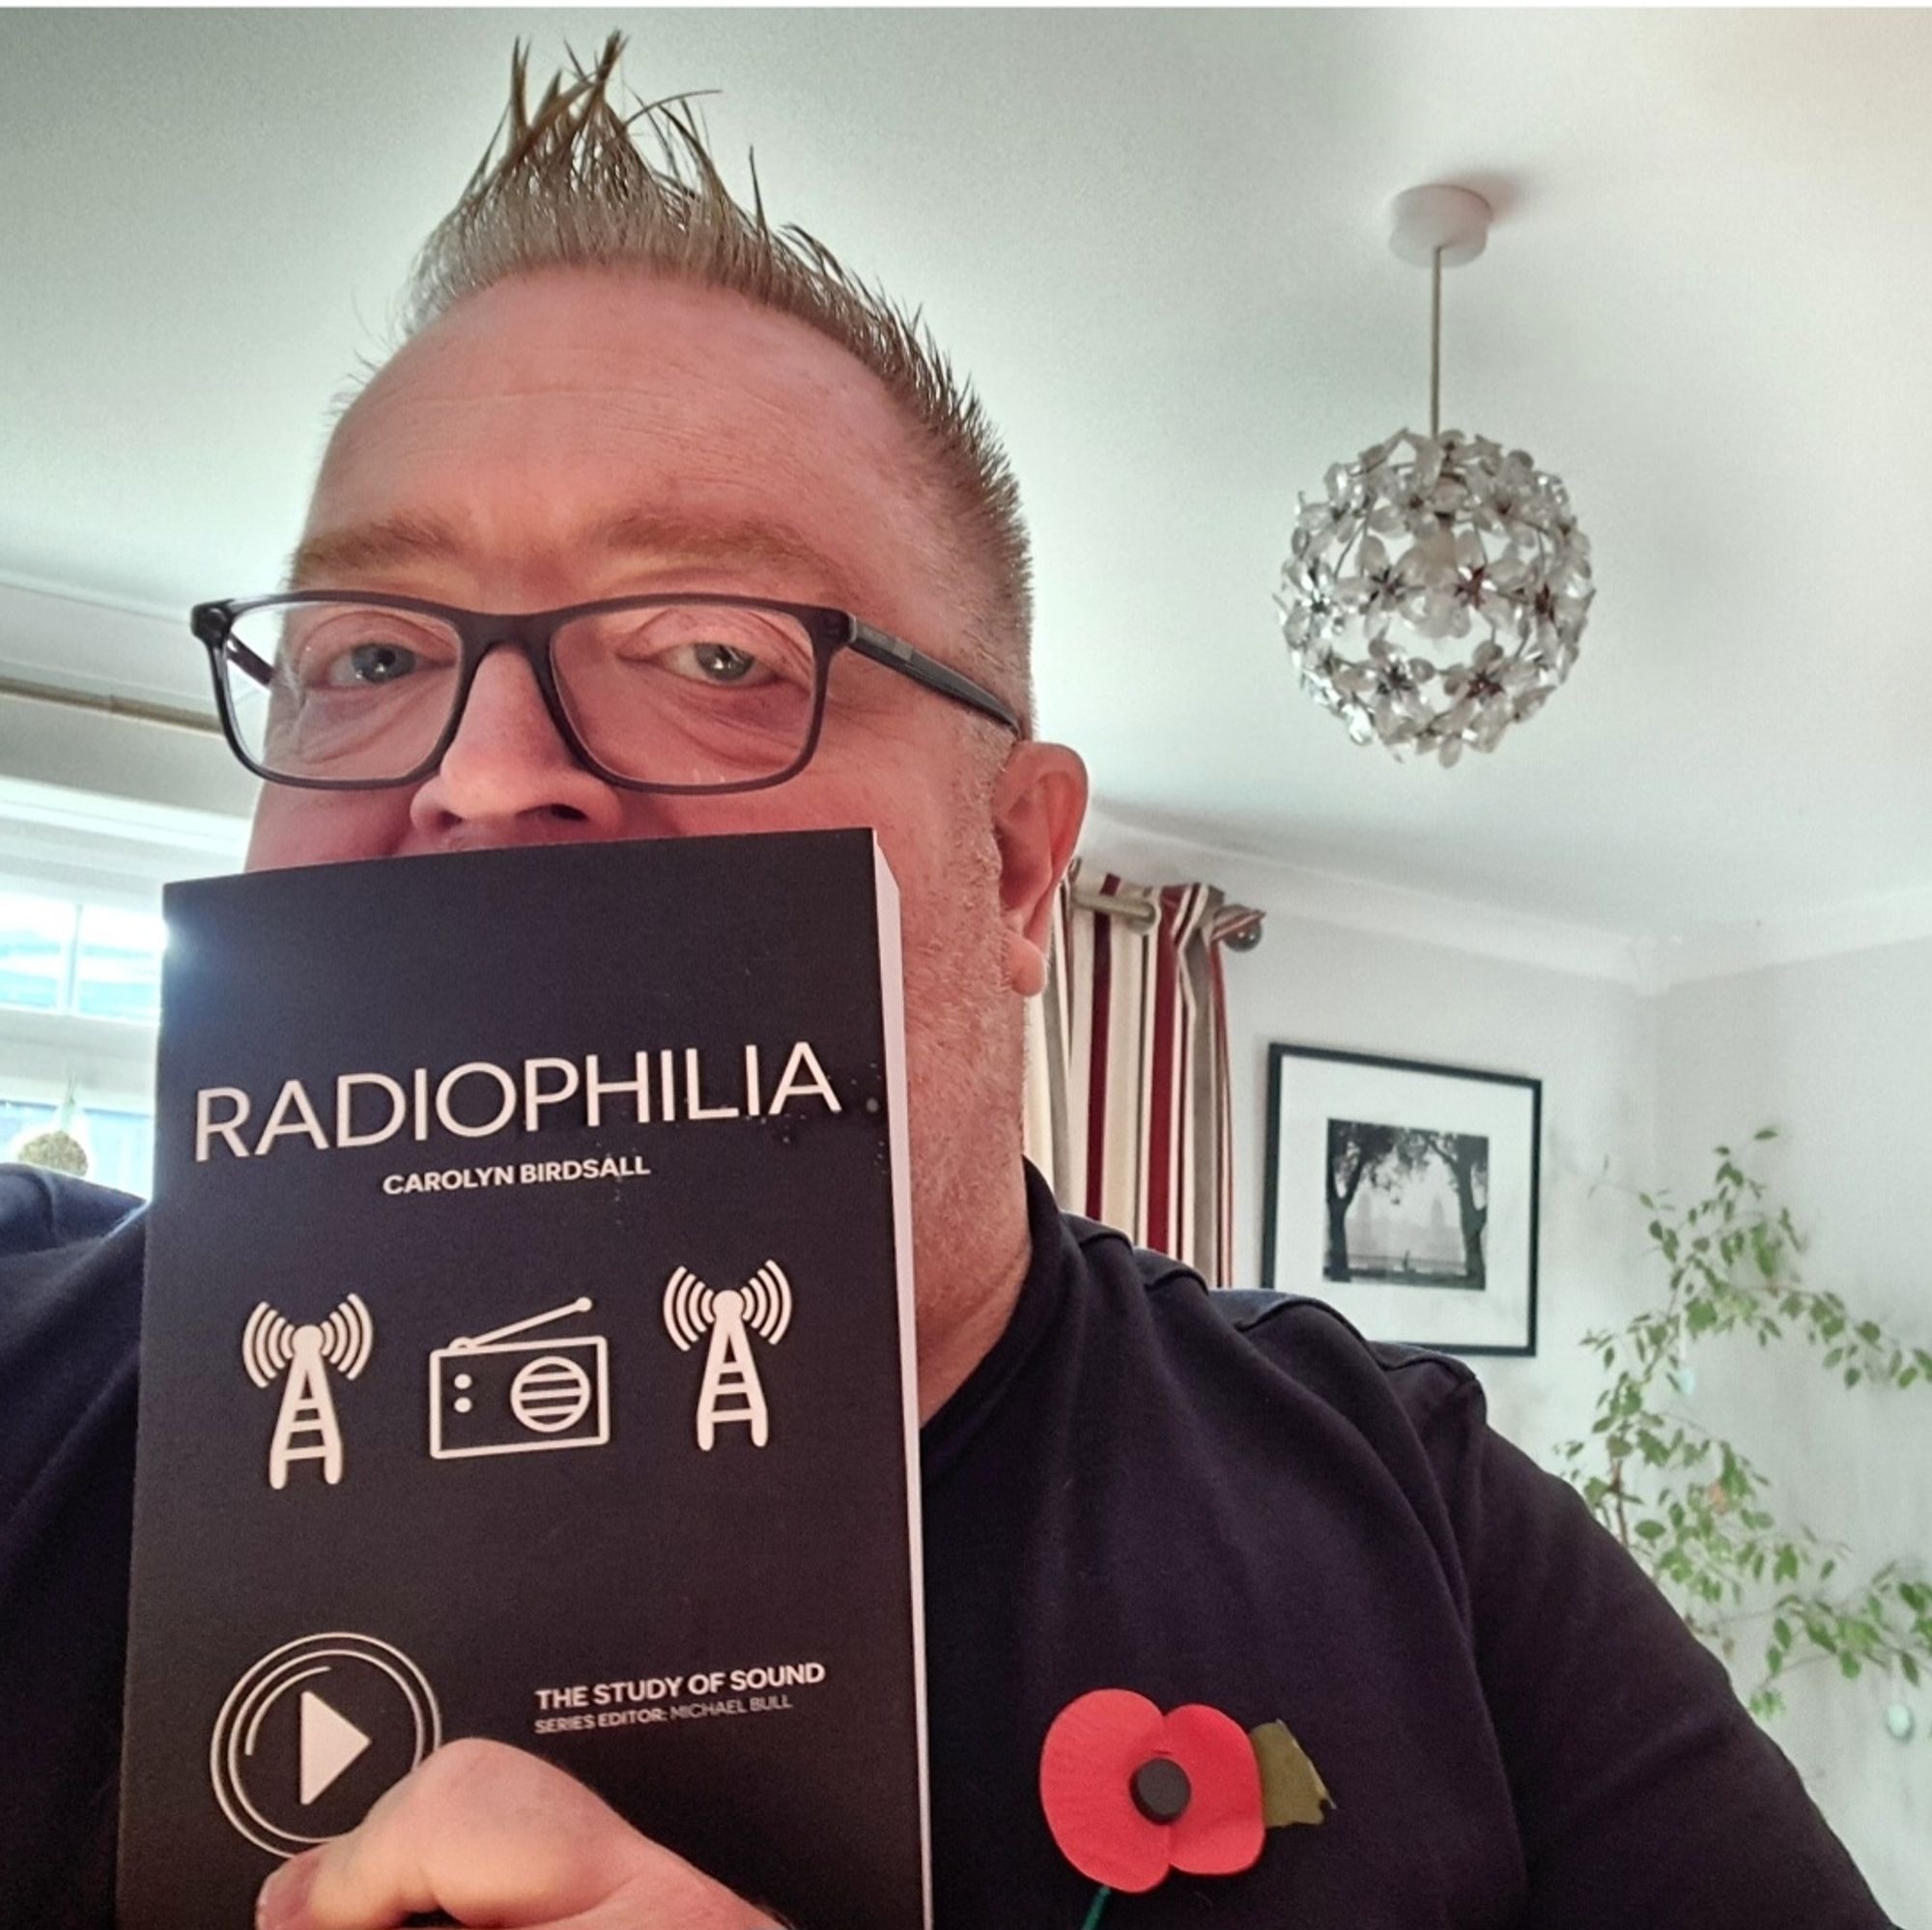
POLYGON ((209 1741, 214 1801, 274 1857, 354 1830, 442 1741, 423 1671, 369 1634, 307 1634, 228 1692, 209 1741))

